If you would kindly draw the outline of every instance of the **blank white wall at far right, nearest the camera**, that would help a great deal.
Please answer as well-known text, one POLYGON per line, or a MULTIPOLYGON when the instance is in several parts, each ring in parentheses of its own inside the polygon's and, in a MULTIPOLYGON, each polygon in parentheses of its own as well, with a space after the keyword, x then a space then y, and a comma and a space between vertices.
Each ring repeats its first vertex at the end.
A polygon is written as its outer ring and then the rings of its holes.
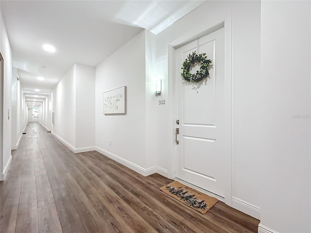
POLYGON ((260 225, 279 233, 311 232, 310 22, 310 1, 261 2, 260 225))

